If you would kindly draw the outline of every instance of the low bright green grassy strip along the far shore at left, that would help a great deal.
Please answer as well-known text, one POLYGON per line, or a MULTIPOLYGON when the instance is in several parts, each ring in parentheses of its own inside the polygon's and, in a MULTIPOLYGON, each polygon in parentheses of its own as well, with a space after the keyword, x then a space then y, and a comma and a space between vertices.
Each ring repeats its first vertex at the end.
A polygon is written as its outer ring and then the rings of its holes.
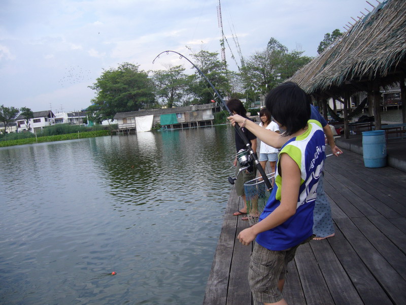
POLYGON ((75 140, 83 138, 93 138, 108 136, 111 134, 110 130, 94 130, 86 132, 77 132, 64 135, 53 135, 53 136, 42 136, 42 137, 30 137, 25 139, 16 139, 8 141, 0 141, 0 147, 13 146, 13 145, 23 145, 32 143, 42 143, 42 142, 53 142, 53 141, 65 141, 65 140, 75 140))

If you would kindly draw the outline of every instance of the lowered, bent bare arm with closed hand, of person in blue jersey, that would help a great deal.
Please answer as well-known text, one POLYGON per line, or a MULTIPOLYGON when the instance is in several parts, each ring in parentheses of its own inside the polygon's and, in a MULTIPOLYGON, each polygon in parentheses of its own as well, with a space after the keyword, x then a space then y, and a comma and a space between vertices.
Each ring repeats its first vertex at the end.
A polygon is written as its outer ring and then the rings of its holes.
POLYGON ((281 204, 264 220, 240 232, 237 238, 243 245, 249 245, 259 233, 279 226, 296 213, 300 187, 300 169, 287 154, 282 154, 280 158, 283 171, 281 204))

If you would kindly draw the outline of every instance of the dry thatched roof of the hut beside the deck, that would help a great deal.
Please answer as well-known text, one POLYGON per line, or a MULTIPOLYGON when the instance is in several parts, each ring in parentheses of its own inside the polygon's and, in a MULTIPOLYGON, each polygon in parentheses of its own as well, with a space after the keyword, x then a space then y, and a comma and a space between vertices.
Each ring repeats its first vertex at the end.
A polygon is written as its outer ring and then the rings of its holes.
POLYGON ((406 1, 386 0, 290 80, 309 94, 376 77, 386 85, 406 69, 405 37, 406 1))

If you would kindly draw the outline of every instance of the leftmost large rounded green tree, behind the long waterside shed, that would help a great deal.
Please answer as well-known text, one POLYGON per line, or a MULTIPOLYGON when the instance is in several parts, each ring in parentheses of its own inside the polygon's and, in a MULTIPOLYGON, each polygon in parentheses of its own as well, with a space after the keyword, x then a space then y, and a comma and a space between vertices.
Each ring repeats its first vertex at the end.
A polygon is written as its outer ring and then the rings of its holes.
POLYGON ((153 82, 138 65, 123 63, 117 69, 105 70, 89 88, 96 91, 96 97, 88 110, 98 120, 113 119, 117 112, 138 111, 156 105, 153 82))

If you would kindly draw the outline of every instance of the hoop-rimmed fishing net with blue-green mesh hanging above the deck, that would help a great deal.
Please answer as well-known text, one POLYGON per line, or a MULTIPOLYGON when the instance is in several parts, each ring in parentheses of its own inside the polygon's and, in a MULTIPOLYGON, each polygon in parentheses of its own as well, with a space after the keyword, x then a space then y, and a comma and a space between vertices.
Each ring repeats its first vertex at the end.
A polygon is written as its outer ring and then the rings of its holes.
MULTIPOLYGON (((269 181, 274 180, 274 173, 266 175, 269 181)), ((266 189, 262 177, 258 177, 245 182, 244 192, 247 200, 247 217, 250 226, 258 222, 266 202, 268 201, 271 190, 266 189)))

